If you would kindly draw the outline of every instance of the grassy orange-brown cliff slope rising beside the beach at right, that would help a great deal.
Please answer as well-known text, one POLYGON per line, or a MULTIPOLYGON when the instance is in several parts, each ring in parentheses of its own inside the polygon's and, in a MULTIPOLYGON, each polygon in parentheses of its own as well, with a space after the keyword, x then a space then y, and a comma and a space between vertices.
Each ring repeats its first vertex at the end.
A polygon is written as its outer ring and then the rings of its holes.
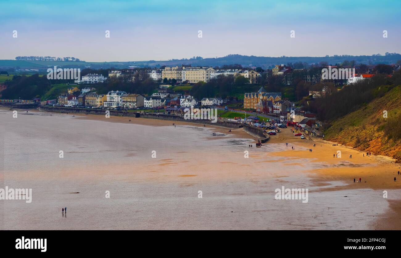
POLYGON ((333 122, 325 139, 401 161, 401 85, 333 122))

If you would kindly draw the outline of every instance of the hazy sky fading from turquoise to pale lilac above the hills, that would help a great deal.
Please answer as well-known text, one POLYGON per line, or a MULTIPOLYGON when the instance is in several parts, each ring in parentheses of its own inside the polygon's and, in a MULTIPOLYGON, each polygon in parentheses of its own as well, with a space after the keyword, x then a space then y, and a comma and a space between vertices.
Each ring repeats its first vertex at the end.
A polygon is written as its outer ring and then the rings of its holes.
POLYGON ((0 0, 0 59, 400 53, 400 14, 399 0, 0 0))

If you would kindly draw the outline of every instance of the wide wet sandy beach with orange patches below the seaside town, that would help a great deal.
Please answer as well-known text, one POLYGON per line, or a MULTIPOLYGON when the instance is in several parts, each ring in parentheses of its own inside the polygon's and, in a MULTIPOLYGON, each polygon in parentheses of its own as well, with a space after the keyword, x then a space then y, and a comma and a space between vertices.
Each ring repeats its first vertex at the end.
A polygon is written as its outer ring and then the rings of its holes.
POLYGON ((30 186, 33 201, 2 207, 33 222, 2 216, 4 229, 400 229, 398 163, 302 140, 289 128, 256 148, 241 128, 40 111, 9 117, 0 111, 0 182, 30 186), (275 200, 282 186, 308 188, 309 202, 275 200), (61 206, 70 207, 68 219, 61 206))

